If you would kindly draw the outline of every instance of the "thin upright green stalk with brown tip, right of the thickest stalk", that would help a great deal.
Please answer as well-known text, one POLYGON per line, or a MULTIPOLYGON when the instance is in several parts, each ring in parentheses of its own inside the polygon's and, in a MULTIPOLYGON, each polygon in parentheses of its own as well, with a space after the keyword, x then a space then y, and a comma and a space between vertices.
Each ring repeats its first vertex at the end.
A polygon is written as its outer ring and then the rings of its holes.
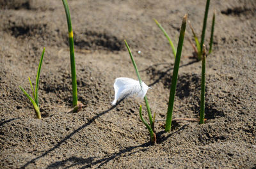
POLYGON ((204 124, 204 109, 205 109, 205 45, 202 52, 202 80, 201 80, 201 104, 200 104, 200 124, 204 124))

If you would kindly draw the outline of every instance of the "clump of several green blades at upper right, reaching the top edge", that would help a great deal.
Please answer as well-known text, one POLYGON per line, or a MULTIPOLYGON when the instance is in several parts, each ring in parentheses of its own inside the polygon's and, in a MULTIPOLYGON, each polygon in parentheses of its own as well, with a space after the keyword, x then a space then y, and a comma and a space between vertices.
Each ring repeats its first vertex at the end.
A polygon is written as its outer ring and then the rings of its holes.
MULTIPOLYGON (((201 42, 200 43, 198 41, 198 38, 195 34, 195 31, 194 31, 193 27, 191 26, 191 23, 189 22, 189 26, 191 28, 191 31, 193 33, 194 40, 195 40, 195 43, 196 43, 196 48, 195 48, 195 45, 192 42, 191 42, 191 45, 193 46, 193 48, 195 50, 196 59, 198 61, 200 61, 202 59, 202 52, 203 52, 202 50, 203 50, 203 45, 204 45, 205 29, 206 29, 206 25, 207 25, 207 17, 208 17, 209 6, 210 6, 210 0, 207 0, 206 5, 205 5, 204 24, 203 24, 203 28, 202 28, 201 42)), ((209 54, 211 54, 211 52, 212 52, 214 25, 215 25, 215 11, 214 11, 213 16, 212 16, 212 27, 211 27, 211 39, 210 39, 210 43, 209 43, 209 46, 210 46, 209 54)))

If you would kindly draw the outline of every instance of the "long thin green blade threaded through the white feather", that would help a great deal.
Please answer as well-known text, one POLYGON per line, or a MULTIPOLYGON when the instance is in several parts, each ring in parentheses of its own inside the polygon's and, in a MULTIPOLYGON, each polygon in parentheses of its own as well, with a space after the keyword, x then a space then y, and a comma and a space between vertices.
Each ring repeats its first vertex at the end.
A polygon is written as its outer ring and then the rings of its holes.
MULTIPOLYGON (((135 63, 135 61, 134 61, 134 59, 133 59, 131 49, 130 49, 128 43, 126 42, 126 40, 124 40, 124 42, 125 42, 125 45, 126 45, 126 47, 127 47, 128 52, 129 52, 129 54, 130 54, 130 57, 131 57, 131 60, 132 60, 132 64, 133 64, 133 66, 134 66, 134 69, 135 69, 135 71, 136 71, 137 77, 138 77, 139 82, 140 82, 140 85, 141 85, 142 81, 141 81, 141 78, 140 78, 140 73, 139 73, 138 68, 137 68, 137 66, 136 66, 136 63, 135 63)), ((141 85, 141 87, 142 87, 142 85, 141 85)), ((145 100, 146 107, 147 107, 147 110, 148 110, 148 118, 149 118, 149 121, 150 121, 150 127, 151 127, 152 129, 154 129, 154 123, 153 123, 153 120, 152 120, 151 110, 150 110, 150 107, 149 107, 149 105, 148 105, 147 95, 145 95, 144 100, 145 100)))

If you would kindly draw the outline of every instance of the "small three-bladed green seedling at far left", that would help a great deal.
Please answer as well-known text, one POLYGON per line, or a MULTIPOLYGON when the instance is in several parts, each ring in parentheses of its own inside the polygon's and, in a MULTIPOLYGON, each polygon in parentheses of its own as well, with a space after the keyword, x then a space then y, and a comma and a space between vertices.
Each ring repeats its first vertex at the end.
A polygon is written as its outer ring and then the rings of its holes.
POLYGON ((29 96, 28 92, 26 92, 20 85, 20 89, 22 90, 22 92, 24 92, 24 94, 28 97, 28 99, 31 101, 31 103, 33 104, 33 107, 35 108, 35 112, 36 112, 36 117, 38 119, 41 119, 41 114, 40 114, 40 108, 39 108, 39 103, 38 103, 38 85, 39 85, 39 77, 40 77, 40 71, 41 71, 41 66, 42 66, 42 62, 44 59, 44 52, 45 52, 45 48, 42 52, 42 56, 38 65, 38 70, 37 70, 37 75, 36 75, 36 87, 35 90, 33 88, 33 85, 31 83, 30 77, 28 77, 29 80, 29 84, 31 87, 31 91, 32 91, 32 96, 33 98, 31 98, 31 96, 29 96))

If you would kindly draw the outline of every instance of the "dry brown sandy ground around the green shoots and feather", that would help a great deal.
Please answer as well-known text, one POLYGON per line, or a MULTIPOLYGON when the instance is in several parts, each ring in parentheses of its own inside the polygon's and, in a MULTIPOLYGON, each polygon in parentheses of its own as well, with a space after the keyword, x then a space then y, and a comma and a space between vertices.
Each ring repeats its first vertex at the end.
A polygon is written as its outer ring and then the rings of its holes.
MULTIPOLYGON (((0 0, 0 168, 256 168, 256 1, 212 0, 205 44, 216 10, 213 53, 207 57, 205 124, 173 122, 164 132, 173 55, 156 18, 175 45, 188 13, 198 35, 205 1, 70 0, 79 101, 72 107, 67 20, 62 2, 0 0), (115 107, 113 82, 136 78, 129 43, 156 112, 151 145, 138 114, 145 103, 127 98, 115 107), (43 47, 39 84, 42 119, 30 91, 43 47), (138 54, 138 51, 141 54, 138 54)), ((192 38, 189 27, 186 38, 192 38)), ((209 45, 207 45, 209 48, 209 45)), ((201 62, 184 41, 173 117, 196 118, 201 62)), ((148 119, 147 119, 148 120, 148 119)))

